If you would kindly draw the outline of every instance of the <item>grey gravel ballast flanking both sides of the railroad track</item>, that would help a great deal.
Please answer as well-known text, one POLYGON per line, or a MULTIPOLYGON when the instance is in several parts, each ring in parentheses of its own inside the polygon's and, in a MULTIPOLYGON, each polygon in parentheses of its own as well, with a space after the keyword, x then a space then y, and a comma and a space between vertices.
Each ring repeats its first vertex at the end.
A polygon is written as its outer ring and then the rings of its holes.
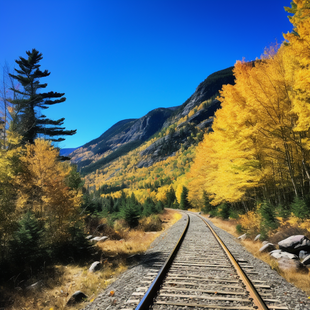
MULTIPOLYGON (((191 216, 191 218, 194 215, 191 216)), ((195 216, 196 217, 196 216, 195 216)), ((89 303, 84 309, 87 310, 101 310, 101 309, 121 309, 121 308, 135 308, 135 304, 126 303, 129 300, 140 300, 141 295, 132 295, 132 293, 145 290, 139 290, 139 287, 149 286, 150 284, 141 283, 141 280, 147 280, 147 273, 156 273, 160 269, 160 264, 166 260, 168 254, 164 253, 167 249, 175 246, 181 233, 184 230, 187 216, 183 216, 177 223, 165 230, 159 237, 157 237, 145 255, 141 255, 140 259, 135 261, 122 275, 108 287, 94 300, 89 303), (114 291, 113 296, 109 296, 110 291, 114 291)), ((281 305, 286 305, 289 309, 310 309, 310 299, 306 293, 288 283, 276 271, 263 261, 255 258, 251 253, 236 241, 236 238, 228 232, 216 227, 212 222, 207 220, 210 226, 215 230, 219 237, 224 241, 229 250, 238 253, 239 258, 248 261, 255 267, 255 271, 259 275, 255 275, 255 279, 251 276, 250 280, 266 281, 266 284, 272 287, 269 292, 272 298, 281 300, 281 305)), ((201 232, 202 234, 202 232, 201 232)), ((203 235, 203 234, 202 234, 203 235)), ((203 236, 201 236, 203 237, 203 236)), ((201 240, 200 240, 201 242, 201 240)), ((195 240, 193 240, 195 243, 195 240)), ((162 308, 179 308, 175 306, 153 306, 154 309, 162 308)), ((181 309, 181 308, 180 308, 181 309)), ((183 308, 184 309, 184 308, 183 308)))

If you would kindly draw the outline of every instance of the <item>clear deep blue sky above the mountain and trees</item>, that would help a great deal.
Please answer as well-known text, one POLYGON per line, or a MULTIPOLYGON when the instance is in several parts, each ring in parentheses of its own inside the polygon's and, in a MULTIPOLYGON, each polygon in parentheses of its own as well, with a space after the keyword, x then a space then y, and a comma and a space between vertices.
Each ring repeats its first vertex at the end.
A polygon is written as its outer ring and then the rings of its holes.
POLYGON ((67 101, 44 113, 65 117, 61 147, 77 147, 114 123, 182 104, 210 73, 292 29, 283 6, 260 1, 0 0, 0 62, 43 53, 47 90, 67 101))

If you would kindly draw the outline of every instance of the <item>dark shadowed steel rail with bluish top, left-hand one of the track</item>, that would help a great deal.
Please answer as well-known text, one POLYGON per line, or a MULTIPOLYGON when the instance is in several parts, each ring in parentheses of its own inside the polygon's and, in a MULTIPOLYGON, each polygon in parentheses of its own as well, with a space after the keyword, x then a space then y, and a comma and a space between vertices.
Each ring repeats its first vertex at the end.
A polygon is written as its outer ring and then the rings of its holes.
MULTIPOLYGON (((175 210, 175 209, 173 209, 175 210)), ((178 210, 181 211, 181 210, 178 210)), ((184 212, 184 211, 183 211, 184 212)), ((157 291, 159 290, 164 278, 166 277, 166 274, 168 272, 168 269, 170 268, 173 259, 175 258, 175 255, 178 253, 178 250, 182 244, 182 241, 185 237, 185 234, 187 232, 188 226, 189 226, 189 215, 184 212, 187 215, 187 223, 184 228, 184 231, 179 238, 179 241, 171 251, 170 255, 166 259, 165 263, 162 265, 162 268, 159 270, 157 276, 153 280, 151 286, 148 288, 146 293, 144 294, 142 300, 139 302, 138 306, 135 308, 135 310, 146 310, 149 308, 149 306, 153 303, 154 297, 157 294, 157 291)))

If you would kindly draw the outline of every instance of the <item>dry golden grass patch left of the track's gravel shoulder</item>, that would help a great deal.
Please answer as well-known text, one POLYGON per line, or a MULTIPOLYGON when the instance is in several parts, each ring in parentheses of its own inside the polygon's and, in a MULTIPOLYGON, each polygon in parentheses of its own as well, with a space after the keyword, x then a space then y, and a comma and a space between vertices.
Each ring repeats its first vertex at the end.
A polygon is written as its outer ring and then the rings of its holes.
MULTIPOLYGON (((163 221, 163 230, 175 224, 182 217, 181 214, 174 210, 165 210, 159 216, 163 221)), ((22 290, 12 292, 7 290, 5 298, 10 300, 12 304, 8 305, 6 309, 81 309, 87 303, 92 302, 100 291, 126 270, 126 257, 143 253, 160 234, 161 232, 124 229, 122 236, 124 236, 125 241, 108 240, 98 244, 103 251, 101 270, 94 273, 88 272, 91 262, 85 266, 73 264, 53 266, 46 271, 48 273, 48 275, 45 275, 47 280, 44 281, 44 286, 40 289, 32 292, 23 292, 22 290), (81 290, 86 294, 88 299, 72 307, 66 306, 69 297, 77 290, 81 290)))

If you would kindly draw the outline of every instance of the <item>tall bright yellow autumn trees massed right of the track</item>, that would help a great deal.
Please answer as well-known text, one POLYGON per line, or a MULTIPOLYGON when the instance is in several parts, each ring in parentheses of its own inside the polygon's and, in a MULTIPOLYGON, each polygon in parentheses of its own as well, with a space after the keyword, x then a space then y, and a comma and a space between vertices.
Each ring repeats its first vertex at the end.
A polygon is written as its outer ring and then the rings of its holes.
POLYGON ((286 11, 285 41, 235 64, 188 175, 194 204, 205 194, 208 211, 254 210, 270 228, 292 212, 310 218, 310 6, 295 0, 286 11))

